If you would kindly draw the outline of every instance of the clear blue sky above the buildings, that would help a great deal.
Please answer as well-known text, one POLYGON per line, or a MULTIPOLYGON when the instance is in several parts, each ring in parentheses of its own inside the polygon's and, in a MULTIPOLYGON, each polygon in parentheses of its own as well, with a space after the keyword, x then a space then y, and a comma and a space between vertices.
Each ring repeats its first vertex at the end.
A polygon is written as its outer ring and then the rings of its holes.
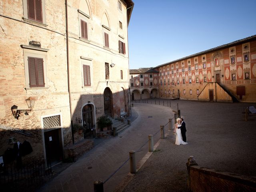
POLYGON ((133 0, 129 68, 156 67, 256 35, 256 0, 133 0))

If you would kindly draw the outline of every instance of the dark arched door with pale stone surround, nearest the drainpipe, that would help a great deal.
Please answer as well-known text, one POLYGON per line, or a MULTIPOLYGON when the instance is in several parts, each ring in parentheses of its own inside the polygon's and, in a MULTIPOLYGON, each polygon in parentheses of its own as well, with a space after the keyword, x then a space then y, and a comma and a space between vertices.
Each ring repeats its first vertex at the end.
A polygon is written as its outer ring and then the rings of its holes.
POLYGON ((84 138, 93 137, 92 105, 85 105, 82 109, 84 138))

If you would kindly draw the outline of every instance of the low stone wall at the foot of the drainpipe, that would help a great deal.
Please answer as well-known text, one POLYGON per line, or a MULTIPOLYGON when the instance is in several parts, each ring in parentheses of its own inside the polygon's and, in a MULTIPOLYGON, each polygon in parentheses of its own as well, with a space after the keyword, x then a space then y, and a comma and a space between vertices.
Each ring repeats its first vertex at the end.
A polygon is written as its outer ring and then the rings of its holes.
POLYGON ((71 146, 64 148, 64 158, 71 161, 76 161, 86 151, 94 147, 94 142, 91 140, 81 140, 71 146))

